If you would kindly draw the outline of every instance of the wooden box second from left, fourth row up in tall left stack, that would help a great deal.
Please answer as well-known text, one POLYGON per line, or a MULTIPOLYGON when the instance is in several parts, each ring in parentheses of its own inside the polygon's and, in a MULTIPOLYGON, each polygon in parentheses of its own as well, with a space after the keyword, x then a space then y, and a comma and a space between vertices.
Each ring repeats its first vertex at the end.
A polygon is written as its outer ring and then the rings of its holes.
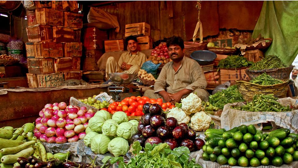
POLYGON ((75 42, 74 29, 53 26, 53 41, 60 43, 75 42))

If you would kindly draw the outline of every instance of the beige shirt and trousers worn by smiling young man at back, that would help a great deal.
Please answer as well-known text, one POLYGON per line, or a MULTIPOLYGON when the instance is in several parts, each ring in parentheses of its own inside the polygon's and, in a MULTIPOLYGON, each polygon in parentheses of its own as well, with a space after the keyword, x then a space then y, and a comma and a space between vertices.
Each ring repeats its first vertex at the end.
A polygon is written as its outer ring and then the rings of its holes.
POLYGON ((140 67, 146 61, 146 55, 140 51, 136 54, 131 54, 130 52, 125 52, 121 54, 118 63, 116 62, 114 57, 109 57, 107 59, 106 64, 106 77, 108 77, 109 73, 133 73, 137 74, 140 67), (126 62, 126 64, 133 65, 128 70, 122 70, 121 64, 122 62, 126 62))

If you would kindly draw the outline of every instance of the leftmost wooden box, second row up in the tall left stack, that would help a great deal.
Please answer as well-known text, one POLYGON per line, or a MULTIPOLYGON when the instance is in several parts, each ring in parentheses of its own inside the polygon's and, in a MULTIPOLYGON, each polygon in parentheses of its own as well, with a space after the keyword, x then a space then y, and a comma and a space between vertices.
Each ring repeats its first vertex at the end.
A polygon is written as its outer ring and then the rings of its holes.
POLYGON ((28 72, 35 74, 45 74, 54 72, 53 58, 30 58, 27 59, 28 72))

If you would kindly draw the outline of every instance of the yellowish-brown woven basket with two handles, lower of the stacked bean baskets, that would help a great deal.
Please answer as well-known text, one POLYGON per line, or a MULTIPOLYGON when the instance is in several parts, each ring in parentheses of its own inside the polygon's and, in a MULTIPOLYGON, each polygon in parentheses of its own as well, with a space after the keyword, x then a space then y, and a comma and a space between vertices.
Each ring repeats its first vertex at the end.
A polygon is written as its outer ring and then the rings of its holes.
POLYGON ((251 101, 253 96, 258 94, 274 94, 274 97, 285 98, 288 92, 288 83, 289 81, 285 81, 281 84, 263 86, 244 80, 236 80, 238 90, 246 101, 251 101))

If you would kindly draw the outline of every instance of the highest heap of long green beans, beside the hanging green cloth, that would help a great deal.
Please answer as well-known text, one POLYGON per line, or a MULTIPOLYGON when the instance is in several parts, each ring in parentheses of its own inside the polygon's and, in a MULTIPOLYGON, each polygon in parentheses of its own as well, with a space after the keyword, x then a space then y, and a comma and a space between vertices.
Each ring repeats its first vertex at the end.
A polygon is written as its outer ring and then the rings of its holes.
POLYGON ((263 70, 272 68, 286 68, 287 66, 276 55, 267 55, 265 58, 249 67, 250 70, 263 70))

